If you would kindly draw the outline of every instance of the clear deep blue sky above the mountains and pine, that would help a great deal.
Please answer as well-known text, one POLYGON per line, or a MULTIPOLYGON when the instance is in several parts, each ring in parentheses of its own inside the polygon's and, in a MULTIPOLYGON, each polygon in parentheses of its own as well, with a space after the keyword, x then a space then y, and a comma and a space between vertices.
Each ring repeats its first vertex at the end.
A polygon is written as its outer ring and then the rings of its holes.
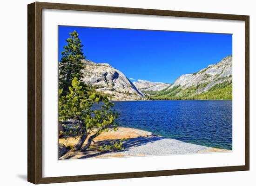
POLYGON ((59 26, 59 60, 74 30, 86 59, 108 63, 132 81, 173 83, 232 54, 232 34, 59 26))

